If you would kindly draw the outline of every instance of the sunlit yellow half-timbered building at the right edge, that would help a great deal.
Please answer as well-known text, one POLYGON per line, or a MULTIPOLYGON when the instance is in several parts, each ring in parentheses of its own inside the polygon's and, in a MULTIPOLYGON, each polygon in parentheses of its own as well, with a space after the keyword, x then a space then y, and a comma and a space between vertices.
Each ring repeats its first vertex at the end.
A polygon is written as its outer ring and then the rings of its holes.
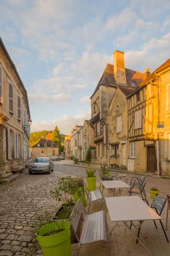
POLYGON ((128 170, 170 175, 170 59, 127 96, 127 114, 128 170))

